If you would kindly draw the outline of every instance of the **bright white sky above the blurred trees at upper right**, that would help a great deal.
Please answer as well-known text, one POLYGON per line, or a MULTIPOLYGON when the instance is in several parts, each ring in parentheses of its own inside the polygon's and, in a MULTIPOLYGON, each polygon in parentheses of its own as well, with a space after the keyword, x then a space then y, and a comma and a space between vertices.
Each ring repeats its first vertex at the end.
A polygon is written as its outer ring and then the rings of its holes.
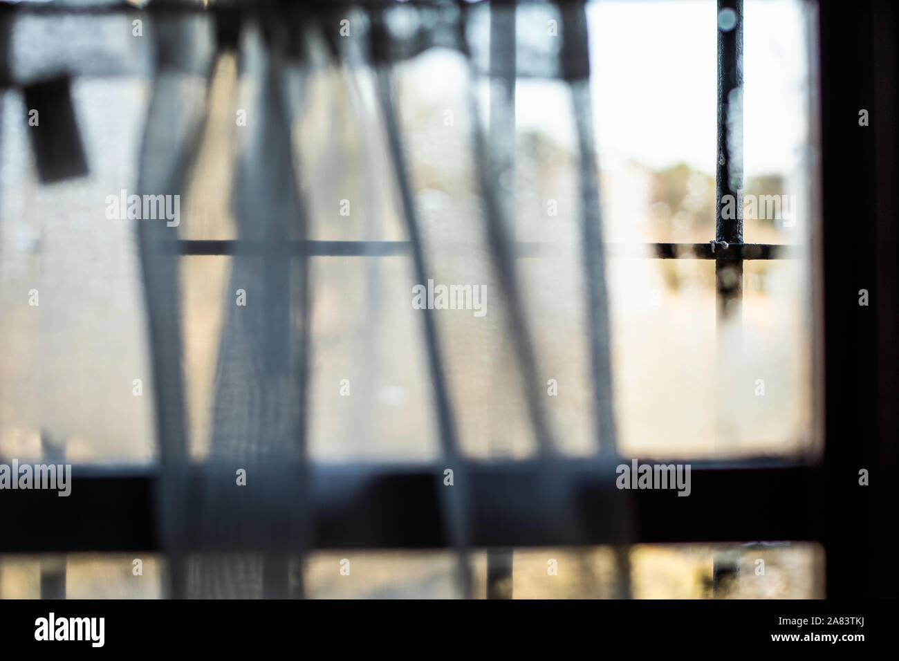
MULTIPOLYGON (((801 169, 808 130, 809 44, 801 0, 746 0, 743 26, 744 173, 801 169)), ((587 4, 594 127, 601 166, 686 162, 713 174, 716 157, 715 0, 594 0, 587 4)), ((414 67, 425 98, 464 89, 458 55, 432 51, 414 67), (434 76, 435 60, 441 75, 434 76)), ((481 89, 484 107, 486 87, 481 89)), ((522 78, 520 130, 539 130, 574 150, 565 85, 522 78)))

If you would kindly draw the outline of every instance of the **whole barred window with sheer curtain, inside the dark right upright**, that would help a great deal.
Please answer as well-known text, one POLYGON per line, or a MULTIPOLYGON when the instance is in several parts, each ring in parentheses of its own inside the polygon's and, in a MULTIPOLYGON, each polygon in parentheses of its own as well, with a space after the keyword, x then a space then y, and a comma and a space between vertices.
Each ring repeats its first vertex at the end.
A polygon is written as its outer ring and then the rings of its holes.
POLYGON ((816 6, 216 5, 0 17, 0 596, 823 595, 816 6))

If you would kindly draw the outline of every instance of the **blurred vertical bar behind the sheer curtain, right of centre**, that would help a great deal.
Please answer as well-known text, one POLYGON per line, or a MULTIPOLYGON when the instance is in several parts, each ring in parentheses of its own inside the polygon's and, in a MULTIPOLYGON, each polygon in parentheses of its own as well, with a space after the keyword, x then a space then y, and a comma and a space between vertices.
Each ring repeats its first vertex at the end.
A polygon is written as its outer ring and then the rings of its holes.
MULTIPOLYGON (((515 4, 490 6, 490 171, 515 237, 515 4)), ((509 454, 508 447, 497 448, 509 454)), ((495 454, 496 452, 494 452, 495 454)), ((487 599, 512 599, 512 549, 487 549, 487 599)))

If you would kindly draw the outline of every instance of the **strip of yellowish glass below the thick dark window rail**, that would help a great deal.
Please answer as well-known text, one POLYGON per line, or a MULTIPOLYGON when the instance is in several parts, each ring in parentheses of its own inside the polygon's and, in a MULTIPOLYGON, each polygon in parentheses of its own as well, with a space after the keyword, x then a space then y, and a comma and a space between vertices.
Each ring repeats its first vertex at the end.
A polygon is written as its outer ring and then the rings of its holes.
MULTIPOLYGON (((473 593, 486 594, 486 552, 469 558, 473 593)), ((515 549, 516 599, 605 599, 619 589, 620 559, 610 547, 515 549)), ((625 555, 636 599, 815 599, 823 596, 823 549, 813 543, 639 545, 625 555), (718 585, 715 586, 716 563, 718 585)), ((450 551, 311 554, 304 563, 313 599, 447 599, 458 597, 450 551)), ((152 554, 81 553, 4 556, 0 599, 39 599, 58 585, 67 599, 158 599, 165 560, 152 554), (136 563, 135 560, 140 560, 136 563), (138 572, 140 572, 138 574, 138 572)), ((292 567, 289 574, 298 570, 292 567)))

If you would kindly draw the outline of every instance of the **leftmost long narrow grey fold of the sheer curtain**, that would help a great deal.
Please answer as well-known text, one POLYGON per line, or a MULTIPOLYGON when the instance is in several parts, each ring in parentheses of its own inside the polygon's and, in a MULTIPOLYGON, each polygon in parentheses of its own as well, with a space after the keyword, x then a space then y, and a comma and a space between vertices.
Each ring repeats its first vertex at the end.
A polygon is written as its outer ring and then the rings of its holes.
MULTIPOLYGON (((207 108, 212 65, 207 17, 159 19, 152 39, 160 54, 138 157, 138 195, 177 195, 198 148, 207 108), (199 71, 187 75, 185 72, 199 71)), ((147 323, 156 401, 159 452, 157 522, 169 553, 169 594, 187 596, 185 558, 191 512, 190 451, 182 374, 180 264, 171 249, 177 230, 169 223, 138 222, 138 251, 147 304, 147 323), (173 231, 174 230, 174 231, 173 231)))

